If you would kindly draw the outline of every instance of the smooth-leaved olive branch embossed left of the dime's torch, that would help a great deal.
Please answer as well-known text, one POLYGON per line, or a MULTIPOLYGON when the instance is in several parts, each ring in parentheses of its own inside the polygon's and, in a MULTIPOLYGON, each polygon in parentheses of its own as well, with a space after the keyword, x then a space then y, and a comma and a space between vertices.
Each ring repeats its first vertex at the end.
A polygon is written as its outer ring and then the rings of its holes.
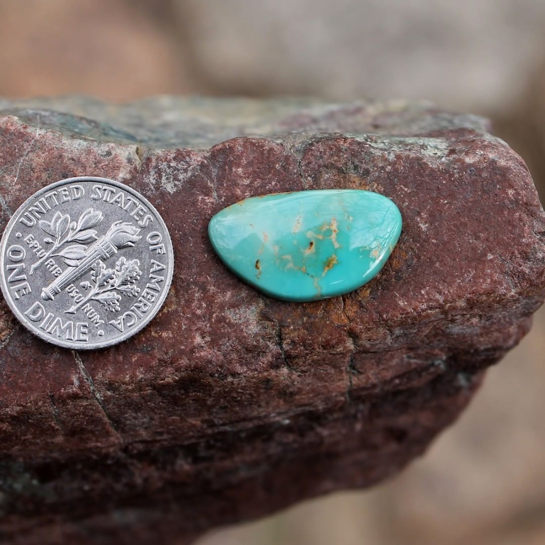
POLYGON ((70 221, 69 214, 57 213, 51 221, 40 220, 38 223, 44 233, 50 237, 44 238, 44 243, 52 245, 51 248, 37 262, 32 264, 30 274, 41 267, 47 258, 58 256, 69 267, 76 267, 78 260, 85 256, 87 247, 85 246, 91 240, 96 240, 96 227, 102 221, 102 212, 94 211, 92 208, 85 210, 80 219, 70 221), (65 243, 80 243, 65 246, 62 250, 59 248, 65 243))

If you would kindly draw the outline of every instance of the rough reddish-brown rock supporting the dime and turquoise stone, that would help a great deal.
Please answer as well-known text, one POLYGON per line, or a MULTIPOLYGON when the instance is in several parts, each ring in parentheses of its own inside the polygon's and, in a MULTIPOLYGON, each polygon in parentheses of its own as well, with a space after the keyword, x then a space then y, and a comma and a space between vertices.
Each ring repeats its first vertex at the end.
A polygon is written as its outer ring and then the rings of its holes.
MULTIPOLYGON (((74 353, 0 302, 0 540, 182 543, 395 474, 468 403, 545 295, 545 215, 484 120, 425 103, 0 100, 1 225, 40 187, 117 179, 164 217, 165 306, 74 353), (403 232, 358 291, 306 304, 226 270, 211 216, 276 191, 383 193, 403 232)), ((445 468, 448 471, 448 468, 445 468)))

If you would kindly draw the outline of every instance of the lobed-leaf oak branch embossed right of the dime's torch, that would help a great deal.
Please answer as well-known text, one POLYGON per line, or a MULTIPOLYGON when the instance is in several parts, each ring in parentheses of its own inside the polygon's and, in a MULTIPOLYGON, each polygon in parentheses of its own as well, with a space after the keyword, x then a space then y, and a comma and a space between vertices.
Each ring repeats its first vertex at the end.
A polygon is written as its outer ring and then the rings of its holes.
POLYGON ((119 311, 121 310, 119 306, 120 294, 133 297, 140 293, 140 288, 135 285, 135 282, 140 280, 141 275, 142 271, 138 259, 128 260, 120 257, 114 269, 107 269, 104 262, 97 259, 91 267, 91 280, 93 283, 88 281, 80 283, 83 289, 90 289, 90 292, 83 300, 65 312, 74 314, 78 308, 89 300, 98 301, 107 311, 119 311))

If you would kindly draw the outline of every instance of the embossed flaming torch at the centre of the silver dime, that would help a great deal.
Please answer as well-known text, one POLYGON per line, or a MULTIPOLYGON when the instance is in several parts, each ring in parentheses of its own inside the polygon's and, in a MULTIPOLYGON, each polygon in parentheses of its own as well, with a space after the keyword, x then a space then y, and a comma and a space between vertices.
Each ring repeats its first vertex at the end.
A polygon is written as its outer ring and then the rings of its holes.
POLYGON ((66 269, 49 286, 41 290, 41 298, 44 301, 53 300, 55 295, 62 292, 66 286, 89 271, 97 259, 105 261, 118 250, 134 246, 142 238, 138 233, 140 233, 140 228, 135 227, 132 223, 125 221, 112 223, 108 232, 89 247, 76 267, 66 269))

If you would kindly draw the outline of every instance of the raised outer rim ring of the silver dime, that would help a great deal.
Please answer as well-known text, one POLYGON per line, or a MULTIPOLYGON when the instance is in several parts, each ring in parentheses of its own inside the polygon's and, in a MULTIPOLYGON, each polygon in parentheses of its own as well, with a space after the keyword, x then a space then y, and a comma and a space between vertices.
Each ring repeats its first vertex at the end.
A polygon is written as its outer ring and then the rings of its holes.
POLYGON ((172 247, 172 240, 170 237, 170 233, 168 232, 168 228, 166 226, 165 221, 162 219, 161 215, 159 214, 157 209, 154 207, 154 205, 150 203, 148 199, 144 197, 140 192, 136 191, 135 189, 132 189, 132 187, 126 184, 122 184, 119 181, 111 180, 110 178, 101 178, 96 176, 76 176, 74 178, 65 178, 64 180, 59 180, 54 182, 53 184, 49 184, 44 187, 41 187, 41 189, 34 192, 30 197, 28 197, 25 200, 25 202, 23 202, 17 208, 17 210, 15 210, 15 213, 10 217, 8 225, 5 226, 4 232, 2 233, 2 240, 0 241, 0 268, 1 268, 0 287, 2 288, 2 294, 4 296, 4 300, 7 302, 9 308, 11 309, 11 312, 15 314, 15 317, 19 320, 19 322, 21 322, 23 326, 25 326, 26 329, 28 329, 33 335, 41 338, 41 340, 49 342, 50 344, 54 344, 55 346, 69 348, 71 350, 95 350, 99 348, 107 348, 110 346, 114 346, 115 344, 126 341, 128 338, 137 334, 138 331, 141 331, 143 328, 145 328, 149 324, 149 322, 153 318, 155 318, 156 314, 161 310, 161 307, 163 306, 171 287, 172 275, 174 272, 174 249, 172 247), (36 328, 34 325, 32 325, 29 322, 29 320, 25 317, 25 315, 19 310, 19 308, 17 308, 15 304, 11 301, 11 294, 9 293, 9 288, 6 282, 5 272, 4 272, 4 256, 5 256, 5 250, 6 250, 5 247, 8 244, 9 233, 11 233, 11 229, 13 229, 17 221, 16 218, 18 217, 18 214, 20 213, 20 211, 22 209, 25 209, 27 205, 33 202, 37 196, 41 195, 41 193, 45 191, 49 191, 50 189, 53 189, 54 187, 58 187, 60 185, 72 184, 77 181, 97 181, 97 182, 114 185, 118 187, 119 189, 123 189, 124 191, 131 193, 131 195, 139 199, 155 215, 156 219, 159 221, 159 225, 164 229, 166 234, 166 239, 163 240, 162 242, 167 246, 167 255, 168 255, 168 252, 170 252, 169 255, 172 256, 172 259, 169 259, 168 272, 165 278, 165 289, 160 295, 158 303, 156 304, 153 312, 149 314, 149 316, 147 316, 141 324, 138 324, 138 326, 135 329, 132 329, 130 332, 122 334, 121 336, 115 338, 114 340, 104 341, 104 342, 94 342, 92 344, 87 344, 86 346, 80 346, 78 344, 75 345, 68 341, 54 340, 52 337, 47 336, 46 334, 42 333, 38 328, 36 328))

